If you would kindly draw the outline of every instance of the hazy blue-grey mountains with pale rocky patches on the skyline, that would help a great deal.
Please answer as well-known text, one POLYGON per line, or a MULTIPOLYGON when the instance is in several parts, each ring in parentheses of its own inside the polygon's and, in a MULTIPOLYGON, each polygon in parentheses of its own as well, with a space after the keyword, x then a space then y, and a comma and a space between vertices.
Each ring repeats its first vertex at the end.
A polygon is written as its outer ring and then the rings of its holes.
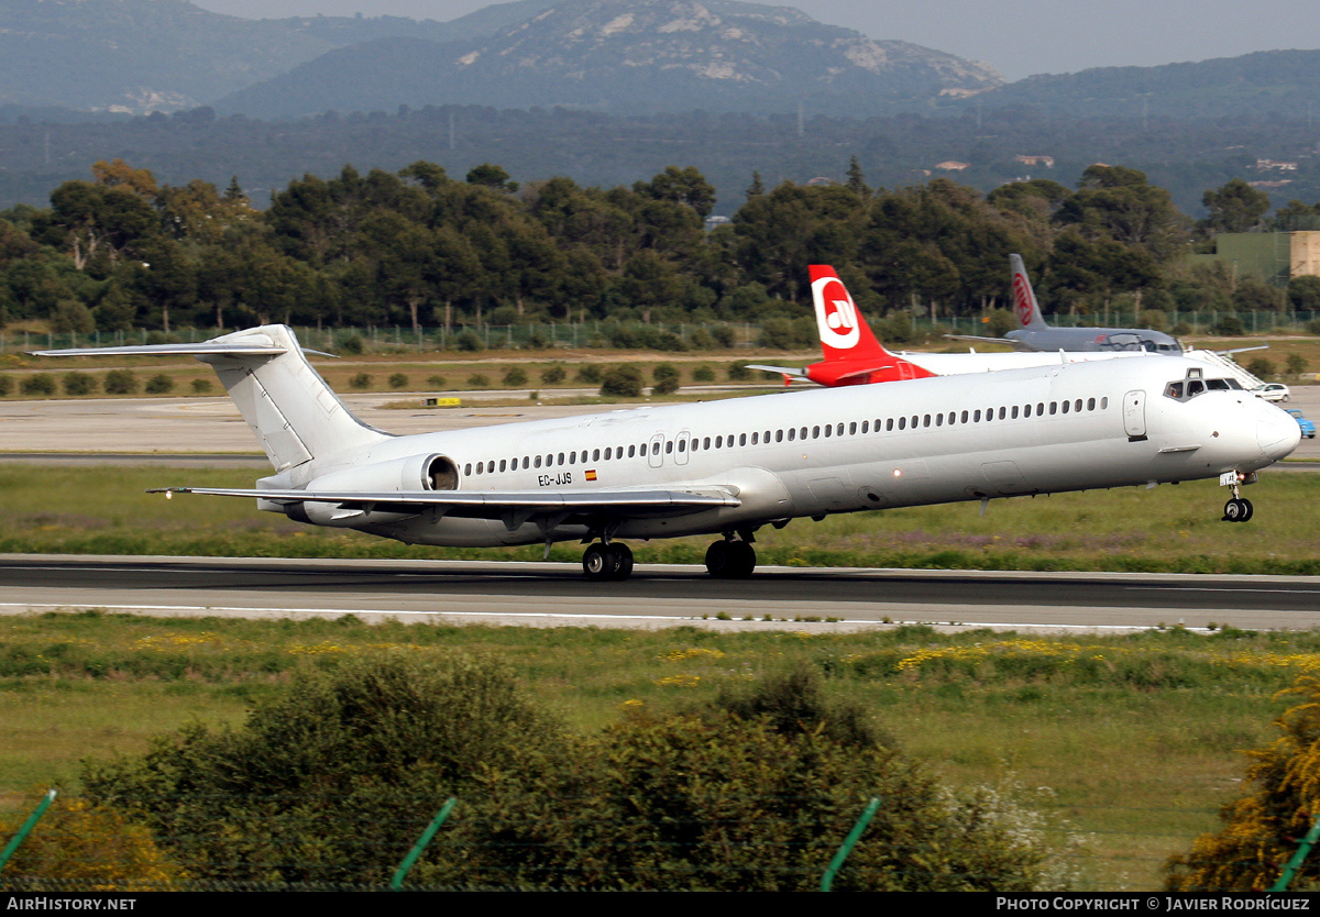
POLYGON ((186 0, 0 0, 0 106, 11 107, 870 113, 1002 83, 983 63, 734 0, 520 0, 451 22, 242 20, 186 0))

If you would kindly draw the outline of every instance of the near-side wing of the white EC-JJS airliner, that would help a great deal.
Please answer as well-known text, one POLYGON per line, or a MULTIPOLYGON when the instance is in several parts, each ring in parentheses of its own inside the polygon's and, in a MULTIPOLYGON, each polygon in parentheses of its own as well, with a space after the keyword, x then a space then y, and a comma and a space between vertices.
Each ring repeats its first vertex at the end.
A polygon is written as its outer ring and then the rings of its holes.
POLYGON ((329 503, 363 512, 421 513, 442 509, 446 516, 498 519, 541 513, 581 516, 685 516, 742 501, 722 488, 598 490, 598 491, 277 491, 261 488, 160 487, 148 493, 240 496, 279 504, 329 503))

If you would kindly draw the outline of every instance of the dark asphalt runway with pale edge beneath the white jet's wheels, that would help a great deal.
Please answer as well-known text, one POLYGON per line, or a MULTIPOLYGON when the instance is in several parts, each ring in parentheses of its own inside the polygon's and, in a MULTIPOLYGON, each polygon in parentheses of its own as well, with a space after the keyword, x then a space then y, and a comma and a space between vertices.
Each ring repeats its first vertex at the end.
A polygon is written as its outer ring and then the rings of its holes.
POLYGON ((437 624, 808 632, 913 623, 1038 632, 1304 629, 1317 619, 1320 577, 759 567, 731 582, 698 566, 639 565, 628 581, 587 583, 566 563, 7 554, 0 596, 0 614, 352 614, 437 624))

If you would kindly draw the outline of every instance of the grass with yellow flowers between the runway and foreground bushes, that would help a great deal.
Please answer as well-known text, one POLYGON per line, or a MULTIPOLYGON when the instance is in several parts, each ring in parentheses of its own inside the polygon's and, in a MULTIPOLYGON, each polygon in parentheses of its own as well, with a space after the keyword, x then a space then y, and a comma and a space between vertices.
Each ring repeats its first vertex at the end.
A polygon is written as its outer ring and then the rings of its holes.
POLYGON ((1085 888, 1148 891, 1164 859, 1242 790, 1242 749, 1272 739, 1275 699, 1320 668, 1320 635, 1173 628, 1036 639, 921 627, 711 633, 313 621, 9 617, 0 636, 0 794, 77 792, 84 756, 137 753, 197 720, 238 722, 298 666, 355 653, 462 649, 511 665, 583 734, 634 705, 673 707, 805 661, 957 785, 1012 784, 1085 838, 1085 888))

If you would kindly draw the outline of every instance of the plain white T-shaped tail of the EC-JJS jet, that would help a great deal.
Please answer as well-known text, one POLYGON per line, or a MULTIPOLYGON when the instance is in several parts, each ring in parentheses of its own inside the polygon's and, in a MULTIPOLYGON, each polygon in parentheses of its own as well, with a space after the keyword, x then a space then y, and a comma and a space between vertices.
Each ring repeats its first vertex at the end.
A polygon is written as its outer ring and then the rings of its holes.
POLYGON ((220 335, 199 344, 143 344, 37 351, 40 356, 195 356, 220 377, 276 471, 391 438, 352 416, 285 325, 220 335))

